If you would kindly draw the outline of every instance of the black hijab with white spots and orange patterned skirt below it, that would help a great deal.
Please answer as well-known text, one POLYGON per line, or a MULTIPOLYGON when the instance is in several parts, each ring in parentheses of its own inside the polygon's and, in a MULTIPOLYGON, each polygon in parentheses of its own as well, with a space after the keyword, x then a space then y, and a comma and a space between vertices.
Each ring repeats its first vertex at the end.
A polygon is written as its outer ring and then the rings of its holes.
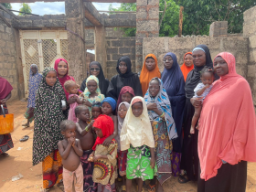
POLYGON ((43 71, 41 81, 36 94, 35 128, 33 138, 33 165, 43 162, 44 188, 52 187, 62 179, 61 157, 58 151, 58 142, 63 137, 59 130, 59 123, 67 119, 68 112, 62 112, 61 100, 66 101, 59 80, 54 86, 49 86, 46 76, 49 71, 43 71))

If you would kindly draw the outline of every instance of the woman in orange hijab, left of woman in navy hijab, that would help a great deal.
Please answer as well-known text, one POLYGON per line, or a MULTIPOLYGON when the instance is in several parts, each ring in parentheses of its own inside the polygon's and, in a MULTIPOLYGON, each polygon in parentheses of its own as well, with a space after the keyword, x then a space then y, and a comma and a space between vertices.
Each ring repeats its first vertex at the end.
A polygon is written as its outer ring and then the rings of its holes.
POLYGON ((143 96, 148 89, 148 84, 153 78, 161 79, 161 72, 158 68, 157 59, 154 54, 148 54, 144 59, 144 66, 140 74, 140 81, 143 90, 143 96))

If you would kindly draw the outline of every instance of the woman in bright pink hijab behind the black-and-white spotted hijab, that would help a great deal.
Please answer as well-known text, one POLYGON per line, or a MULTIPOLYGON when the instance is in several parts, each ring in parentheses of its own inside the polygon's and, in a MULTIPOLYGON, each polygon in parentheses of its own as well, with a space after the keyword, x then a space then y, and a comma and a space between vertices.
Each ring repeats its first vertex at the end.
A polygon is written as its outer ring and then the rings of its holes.
POLYGON ((69 92, 67 92, 64 89, 64 83, 67 80, 74 80, 75 81, 75 79, 72 76, 69 76, 69 63, 68 63, 68 61, 65 60, 65 59, 56 59, 55 64, 54 64, 54 69, 57 71, 57 77, 59 79, 59 82, 60 82, 63 90, 65 91, 67 101, 69 102, 69 104, 73 103, 74 101, 71 101, 72 98, 69 99, 69 92))

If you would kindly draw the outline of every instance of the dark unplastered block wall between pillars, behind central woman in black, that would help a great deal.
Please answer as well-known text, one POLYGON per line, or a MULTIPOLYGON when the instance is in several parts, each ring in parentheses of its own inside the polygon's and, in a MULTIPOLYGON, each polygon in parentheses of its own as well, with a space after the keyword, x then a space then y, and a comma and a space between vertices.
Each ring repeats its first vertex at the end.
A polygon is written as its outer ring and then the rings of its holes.
POLYGON ((135 71, 135 37, 106 37, 107 74, 109 80, 117 74, 117 60, 128 56, 132 61, 132 70, 135 71))

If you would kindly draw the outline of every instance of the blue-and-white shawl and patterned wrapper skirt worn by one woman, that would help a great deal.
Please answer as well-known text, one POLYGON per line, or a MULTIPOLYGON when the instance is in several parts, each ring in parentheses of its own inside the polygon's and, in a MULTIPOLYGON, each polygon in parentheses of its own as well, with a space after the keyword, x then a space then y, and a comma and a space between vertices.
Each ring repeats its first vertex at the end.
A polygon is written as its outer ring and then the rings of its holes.
POLYGON ((174 119, 172 117, 170 101, 163 87, 162 80, 158 78, 154 78, 152 80, 158 81, 160 90, 155 97, 151 96, 150 91, 147 91, 144 96, 144 101, 146 104, 156 103, 158 110, 165 114, 164 116, 160 117, 154 111, 148 112, 149 118, 153 122, 152 127, 155 136, 155 162, 157 165, 157 179, 162 186, 163 183, 172 176, 170 155, 173 148, 171 138, 176 136, 176 124, 174 123, 174 119), (173 133, 173 135, 171 133, 173 133))

